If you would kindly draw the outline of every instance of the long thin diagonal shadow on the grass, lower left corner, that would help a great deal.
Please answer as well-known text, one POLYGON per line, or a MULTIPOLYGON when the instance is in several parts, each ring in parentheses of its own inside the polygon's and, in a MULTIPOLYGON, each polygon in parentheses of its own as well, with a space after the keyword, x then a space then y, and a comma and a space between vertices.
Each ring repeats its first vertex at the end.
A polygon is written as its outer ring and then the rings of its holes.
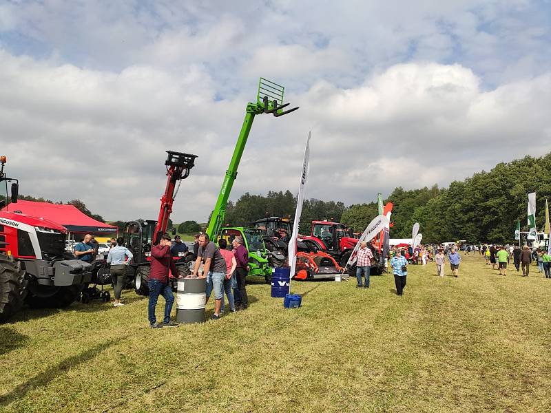
POLYGON ((103 352, 103 350, 105 350, 106 348, 109 348, 110 346, 112 346, 112 344, 120 340, 121 338, 118 337, 117 339, 105 341, 101 344, 98 344, 95 347, 90 348, 89 350, 86 350, 84 352, 81 352, 80 354, 77 354, 76 356, 68 357, 67 359, 64 359, 60 363, 56 364, 56 366, 52 366, 48 368, 48 370, 46 370, 45 372, 42 372, 37 376, 33 377, 32 379, 25 381, 24 383, 21 383, 16 388, 14 388, 14 390, 12 390, 11 392, 1 395, 0 406, 9 405, 10 403, 12 403, 12 401, 16 399, 20 399, 21 397, 25 396, 25 394, 30 392, 30 390, 33 390, 35 388, 41 388, 45 385, 48 385, 50 381, 61 376, 63 372, 70 370, 76 366, 79 366, 79 364, 94 358, 97 354, 103 352))

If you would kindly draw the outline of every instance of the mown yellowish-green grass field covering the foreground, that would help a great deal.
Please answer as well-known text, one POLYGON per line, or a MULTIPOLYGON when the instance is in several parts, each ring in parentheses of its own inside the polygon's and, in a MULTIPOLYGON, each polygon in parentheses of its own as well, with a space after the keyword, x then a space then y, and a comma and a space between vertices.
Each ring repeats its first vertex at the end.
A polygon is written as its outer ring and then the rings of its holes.
POLYGON ((25 310, 0 326, 0 411, 550 411, 551 279, 535 270, 410 266, 403 297, 392 275, 293 282, 295 310, 259 282, 246 311, 159 330, 129 291, 121 308, 25 310))

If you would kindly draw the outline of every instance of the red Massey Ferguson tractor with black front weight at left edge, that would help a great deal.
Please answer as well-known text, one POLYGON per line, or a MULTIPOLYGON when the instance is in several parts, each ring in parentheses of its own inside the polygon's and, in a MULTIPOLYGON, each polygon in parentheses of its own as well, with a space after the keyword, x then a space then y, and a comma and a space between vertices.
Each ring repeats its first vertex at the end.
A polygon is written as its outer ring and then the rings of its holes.
MULTIPOLYGON (((67 229, 56 222, 17 212, 19 182, 6 177, 0 156, 0 184, 12 182, 11 211, 0 211, 0 322, 23 303, 31 308, 63 308, 92 278, 92 266, 65 256, 67 229)), ((8 201, 0 201, 0 209, 8 201)))

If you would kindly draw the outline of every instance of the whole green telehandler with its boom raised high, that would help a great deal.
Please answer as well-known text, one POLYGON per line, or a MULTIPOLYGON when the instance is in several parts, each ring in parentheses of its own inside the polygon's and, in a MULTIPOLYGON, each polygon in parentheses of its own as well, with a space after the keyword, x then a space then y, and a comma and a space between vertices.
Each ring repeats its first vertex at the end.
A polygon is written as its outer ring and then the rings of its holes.
MULTIPOLYGON (((237 171, 241 156, 247 145, 247 138, 249 138, 249 132, 253 125, 253 120, 256 115, 260 114, 273 114, 276 118, 294 112, 298 107, 292 109, 283 110, 289 106, 289 103, 283 103, 284 87, 268 81, 267 79, 260 78, 258 82, 258 93, 256 95, 256 103, 247 103, 245 109, 245 120, 236 142, 236 147, 233 149, 233 156, 229 162, 229 167, 226 171, 224 181, 222 182, 222 188, 218 193, 218 199, 214 211, 207 225, 207 235, 209 239, 214 242, 218 242, 222 235, 227 238, 228 242, 233 240, 233 237, 240 235, 243 237, 245 246, 249 251, 249 275, 260 275, 264 277, 266 282, 271 280, 271 267, 270 262, 282 262, 284 257, 280 257, 278 251, 268 251, 262 240, 262 234, 258 229, 249 229, 239 226, 225 227, 224 220, 226 215, 226 205, 233 187, 233 182, 237 178, 237 171), (224 233, 222 234, 222 231, 224 233)), ((231 243, 229 244, 231 245, 231 243)))

